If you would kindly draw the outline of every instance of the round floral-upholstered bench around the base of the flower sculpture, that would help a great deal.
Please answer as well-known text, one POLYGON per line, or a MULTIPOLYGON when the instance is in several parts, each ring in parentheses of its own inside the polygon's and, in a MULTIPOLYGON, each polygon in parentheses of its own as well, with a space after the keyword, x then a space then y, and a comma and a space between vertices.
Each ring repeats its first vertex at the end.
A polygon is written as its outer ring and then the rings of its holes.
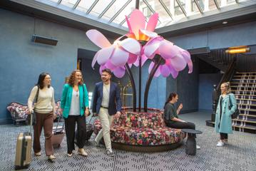
MULTIPOLYGON (((116 115, 111 125, 113 147, 136 152, 157 152, 177 148, 183 142, 184 133, 179 129, 168 128, 163 121, 163 111, 150 108, 148 113, 133 112, 123 108, 120 118, 116 115)), ((93 125, 96 135, 101 123, 93 125)))

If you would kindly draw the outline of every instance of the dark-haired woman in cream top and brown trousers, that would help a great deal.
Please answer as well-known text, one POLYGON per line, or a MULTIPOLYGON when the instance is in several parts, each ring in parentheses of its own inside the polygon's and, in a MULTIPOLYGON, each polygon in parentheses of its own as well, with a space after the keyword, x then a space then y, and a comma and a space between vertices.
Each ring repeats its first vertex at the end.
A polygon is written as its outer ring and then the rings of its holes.
POLYGON ((40 136, 43 128, 45 137, 45 150, 48 160, 54 162, 51 135, 53 130, 53 120, 56 118, 54 90, 51 87, 51 76, 48 73, 41 73, 39 81, 31 90, 28 100, 29 114, 35 113, 36 125, 34 125, 33 149, 36 156, 41 155, 40 136), (33 101, 36 100, 33 109, 33 101))

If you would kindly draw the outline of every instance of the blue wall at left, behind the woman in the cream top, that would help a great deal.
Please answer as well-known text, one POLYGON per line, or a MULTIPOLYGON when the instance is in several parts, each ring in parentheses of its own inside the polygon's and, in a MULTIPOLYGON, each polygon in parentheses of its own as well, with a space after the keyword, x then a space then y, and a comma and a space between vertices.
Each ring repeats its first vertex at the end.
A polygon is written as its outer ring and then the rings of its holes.
POLYGON ((51 73, 58 100, 64 78, 76 68, 78 48, 97 48, 86 38, 86 31, 4 9, 0 9, 0 16, 0 123, 6 123, 10 120, 7 104, 26 103, 39 73, 51 73), (31 42, 34 33, 58 39, 57 46, 31 42))

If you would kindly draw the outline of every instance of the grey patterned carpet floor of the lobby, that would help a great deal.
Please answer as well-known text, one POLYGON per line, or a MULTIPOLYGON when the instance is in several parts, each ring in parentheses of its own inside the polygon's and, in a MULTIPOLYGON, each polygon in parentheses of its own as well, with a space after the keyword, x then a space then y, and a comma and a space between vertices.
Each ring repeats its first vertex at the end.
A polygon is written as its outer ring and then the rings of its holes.
MULTIPOLYGON (((29 170, 256 170, 256 136, 234 132, 229 136, 229 145, 216 147, 218 135, 214 128, 205 125, 209 113, 188 113, 180 115, 183 120, 195 123, 203 134, 197 142, 201 150, 195 156, 185 154, 185 146, 167 152, 126 152, 114 150, 115 157, 108 157, 104 148, 96 147, 90 140, 86 144, 88 157, 66 155, 66 138, 55 150, 58 157, 50 163, 43 155, 34 157, 29 170)), ((0 125, 0 170, 14 170, 16 136, 29 130, 28 126, 0 125)), ((43 137, 42 137, 43 141, 43 137)), ((43 146, 42 146, 43 148, 43 146)))

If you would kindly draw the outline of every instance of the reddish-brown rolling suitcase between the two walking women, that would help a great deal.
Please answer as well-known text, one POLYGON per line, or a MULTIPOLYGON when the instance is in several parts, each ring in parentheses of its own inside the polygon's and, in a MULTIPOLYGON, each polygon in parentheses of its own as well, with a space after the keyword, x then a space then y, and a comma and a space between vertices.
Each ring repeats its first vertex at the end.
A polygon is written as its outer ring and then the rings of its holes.
POLYGON ((64 138, 65 131, 64 131, 64 123, 62 126, 59 126, 61 120, 61 116, 58 118, 58 123, 56 127, 53 127, 53 135, 51 135, 51 143, 53 147, 60 147, 61 142, 64 138))

